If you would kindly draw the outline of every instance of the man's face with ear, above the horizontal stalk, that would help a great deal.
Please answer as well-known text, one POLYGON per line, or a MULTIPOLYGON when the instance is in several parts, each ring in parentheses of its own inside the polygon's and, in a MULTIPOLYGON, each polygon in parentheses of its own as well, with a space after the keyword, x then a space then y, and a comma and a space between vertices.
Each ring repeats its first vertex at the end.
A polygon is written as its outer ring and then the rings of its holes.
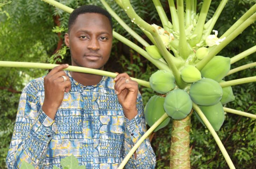
POLYGON ((80 14, 65 34, 72 65, 103 69, 112 48, 112 28, 108 18, 98 13, 80 14))

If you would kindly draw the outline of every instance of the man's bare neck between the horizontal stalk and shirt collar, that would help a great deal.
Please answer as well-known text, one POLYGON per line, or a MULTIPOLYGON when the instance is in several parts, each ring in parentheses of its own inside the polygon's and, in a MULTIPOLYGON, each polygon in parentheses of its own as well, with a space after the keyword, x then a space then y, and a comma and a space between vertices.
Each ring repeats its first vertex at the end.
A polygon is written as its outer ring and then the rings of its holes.
POLYGON ((75 81, 82 84, 83 86, 92 86, 98 84, 102 79, 101 75, 80 72, 70 72, 70 74, 75 81))

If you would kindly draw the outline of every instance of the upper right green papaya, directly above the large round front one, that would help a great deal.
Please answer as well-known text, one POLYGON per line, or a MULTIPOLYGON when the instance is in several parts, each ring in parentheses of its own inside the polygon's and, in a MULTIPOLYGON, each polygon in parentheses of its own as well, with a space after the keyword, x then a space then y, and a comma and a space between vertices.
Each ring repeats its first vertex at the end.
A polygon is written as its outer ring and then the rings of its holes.
POLYGON ((201 70, 202 77, 220 82, 230 70, 230 58, 214 56, 201 70))

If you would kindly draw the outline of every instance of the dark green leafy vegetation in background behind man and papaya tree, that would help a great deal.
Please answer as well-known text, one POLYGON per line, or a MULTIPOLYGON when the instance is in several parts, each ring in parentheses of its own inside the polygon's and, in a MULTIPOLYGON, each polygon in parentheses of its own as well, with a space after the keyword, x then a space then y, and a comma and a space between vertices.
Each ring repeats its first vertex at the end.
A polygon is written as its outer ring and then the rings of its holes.
MULTIPOLYGON (((219 1, 211 2, 210 15, 213 15, 219 1)), ((4 2, 8 2, 8 0, 4 0, 4 2)), ((60 2, 72 8, 84 4, 102 6, 100 2, 94 2, 92 0, 60 2)), ((114 11, 131 28, 142 35, 140 29, 130 22, 128 16, 119 6, 110 0, 108 2, 114 11)), ((201 1, 198 0, 199 2, 201 1)), ((255 0, 229 1, 214 27, 219 33, 218 37, 240 18, 247 9, 254 5, 255 2, 255 0)), ((147 22, 161 25, 152 1, 131 0, 131 3, 134 5, 136 12, 147 22)), ((162 4, 166 5, 166 13, 169 17, 168 3, 162 4)), ((210 15, 208 19, 211 17, 210 15)), ((12 4, 5 5, 0 9, 0 60, 70 63, 69 52, 67 50, 65 54, 65 48, 61 50, 61 54, 55 54, 58 49, 64 47, 63 35, 65 31, 61 33, 58 33, 58 31, 61 31, 58 29, 54 29, 55 32, 52 31, 55 26, 60 26, 62 29, 66 28, 68 16, 68 13, 49 6, 40 0, 15 0, 12 4), (61 59, 60 55, 63 56, 63 59, 61 59)), ((114 30, 136 43, 136 40, 128 35, 115 21, 114 30)), ((245 29, 241 35, 225 47, 218 55, 233 57, 254 46, 256 44, 255 34, 256 25, 254 23, 245 29)), ((231 69, 255 62, 255 56, 256 54, 254 53, 234 63, 231 65, 231 69)), ((110 72, 127 72, 132 77, 148 81, 150 75, 156 71, 156 68, 142 56, 121 42, 114 40, 112 55, 106 65, 106 70, 110 72)), ((225 81, 255 76, 255 72, 255 68, 243 70, 227 76, 225 81)), ((22 88, 29 80, 46 73, 46 70, 41 69, 0 68, 0 168, 5 168, 5 158, 13 132, 16 110, 22 88)), ((228 103, 226 107, 256 114, 255 83, 247 83, 232 88, 236 99, 228 103)), ((140 92, 142 93, 145 104, 154 95, 153 90, 148 88, 141 87, 140 92)), ((167 127, 157 131, 153 137, 152 145, 157 156, 156 168, 169 168, 170 133, 171 123, 167 127)), ((217 134, 221 138, 236 168, 254 168, 256 158, 255 120, 239 115, 225 114, 225 121, 217 134)), ((213 137, 208 129, 199 122, 195 114, 192 114, 191 117, 190 137, 191 168, 228 168, 213 137)))

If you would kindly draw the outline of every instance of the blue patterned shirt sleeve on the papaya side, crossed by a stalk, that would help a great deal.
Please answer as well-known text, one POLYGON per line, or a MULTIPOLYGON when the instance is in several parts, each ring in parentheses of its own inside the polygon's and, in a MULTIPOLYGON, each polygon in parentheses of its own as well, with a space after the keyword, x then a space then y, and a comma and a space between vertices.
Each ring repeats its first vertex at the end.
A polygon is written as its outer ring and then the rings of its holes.
MULTIPOLYGON (((124 138, 124 157, 129 153, 132 147, 140 140, 146 132, 146 123, 144 117, 144 107, 141 95, 137 99, 138 114, 132 120, 126 119, 125 124, 125 138, 124 138)), ((134 155, 127 162, 125 168, 127 169, 154 169, 156 165, 156 156, 150 141, 147 138, 144 140, 139 148, 136 150, 137 158, 134 155)))

